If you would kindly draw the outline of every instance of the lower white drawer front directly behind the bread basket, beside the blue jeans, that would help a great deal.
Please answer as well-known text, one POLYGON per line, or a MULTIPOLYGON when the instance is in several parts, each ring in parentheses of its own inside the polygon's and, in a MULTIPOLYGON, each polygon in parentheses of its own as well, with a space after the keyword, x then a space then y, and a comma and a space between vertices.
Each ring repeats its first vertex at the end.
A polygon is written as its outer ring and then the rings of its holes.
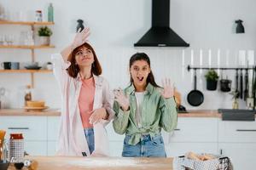
POLYGON ((183 156, 185 153, 193 151, 195 153, 217 154, 218 143, 176 143, 166 145, 166 155, 168 157, 183 156))

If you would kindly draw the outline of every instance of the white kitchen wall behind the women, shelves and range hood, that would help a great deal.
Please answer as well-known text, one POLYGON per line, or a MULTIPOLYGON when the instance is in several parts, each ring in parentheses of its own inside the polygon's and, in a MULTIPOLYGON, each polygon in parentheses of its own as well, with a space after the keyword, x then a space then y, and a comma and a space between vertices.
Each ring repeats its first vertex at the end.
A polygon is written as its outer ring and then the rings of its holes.
MULTIPOLYGON (((76 20, 83 19, 90 27, 90 42, 103 67, 103 76, 108 79, 112 88, 125 88, 129 81, 128 61, 131 54, 145 52, 152 61, 156 81, 170 77, 183 95, 183 105, 187 109, 231 108, 230 94, 219 90, 206 91, 205 71, 198 71, 197 87, 205 94, 205 101, 200 107, 192 107, 186 96, 193 88, 191 71, 187 65, 203 66, 237 66, 239 50, 256 48, 256 15, 254 0, 171 0, 171 27, 186 42, 189 48, 134 48, 133 43, 148 31, 151 25, 151 1, 149 0, 76 0, 76 1, 32 1, 0 0, 11 16, 22 11, 31 14, 42 9, 46 19, 46 8, 49 3, 55 8, 55 26, 51 26, 54 35, 51 42, 54 49, 37 49, 36 59, 40 63, 49 61, 50 54, 58 53, 72 41, 76 20), (235 34, 234 21, 243 20, 245 34, 235 34), (200 57, 199 50, 202 49, 200 57), (208 50, 212 50, 209 62, 208 50), (218 57, 217 52, 220 50, 218 57), (194 59, 191 59, 194 50, 194 59), (226 56, 230 51, 229 57, 226 56), (219 64, 219 65, 218 65, 219 64)), ((13 33, 17 36, 27 26, 1 26, 0 34, 13 33)), ((247 58, 247 55, 246 55, 247 58)), ((30 51, 26 49, 0 49, 0 62, 30 61, 30 51)), ((254 61, 253 61, 254 62, 254 61)), ((251 63, 253 64, 253 63, 251 63)), ((235 71, 225 72, 234 80, 235 71)), ((4 97, 5 107, 23 105, 22 88, 30 82, 29 74, 0 74, 0 87, 7 88, 9 94, 4 97), (9 105, 8 105, 9 103, 9 105)), ((234 83, 232 84, 234 87, 234 83)), ((35 99, 45 99, 50 107, 60 107, 60 94, 55 79, 49 74, 36 74, 35 99)), ((244 102, 241 102, 241 107, 244 102)))

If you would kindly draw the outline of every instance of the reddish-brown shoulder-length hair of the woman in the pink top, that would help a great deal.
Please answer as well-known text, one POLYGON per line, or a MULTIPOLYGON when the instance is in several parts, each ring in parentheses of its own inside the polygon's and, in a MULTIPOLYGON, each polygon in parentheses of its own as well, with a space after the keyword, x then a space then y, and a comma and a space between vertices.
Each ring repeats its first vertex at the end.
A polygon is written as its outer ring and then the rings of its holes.
POLYGON ((67 60, 71 62, 71 65, 67 68, 67 73, 70 77, 77 77, 79 74, 79 65, 76 64, 76 54, 79 51, 80 48, 88 48, 91 50, 92 54, 93 54, 93 58, 94 58, 94 62, 91 65, 91 72, 96 75, 99 76, 102 74, 102 66, 99 62, 99 60, 97 59, 96 53, 94 51, 94 49, 90 46, 89 43, 84 42, 84 44, 80 45, 78 48, 75 48, 73 50, 73 52, 71 54, 69 54, 67 60))

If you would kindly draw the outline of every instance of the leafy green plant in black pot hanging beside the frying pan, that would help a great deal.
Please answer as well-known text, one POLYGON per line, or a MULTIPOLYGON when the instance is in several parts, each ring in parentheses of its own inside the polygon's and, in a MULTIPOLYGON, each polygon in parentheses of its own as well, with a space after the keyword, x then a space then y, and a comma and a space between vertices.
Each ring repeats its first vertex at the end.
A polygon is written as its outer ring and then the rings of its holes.
POLYGON ((207 90, 216 90, 218 83, 218 74, 213 69, 210 69, 205 75, 207 79, 207 90))

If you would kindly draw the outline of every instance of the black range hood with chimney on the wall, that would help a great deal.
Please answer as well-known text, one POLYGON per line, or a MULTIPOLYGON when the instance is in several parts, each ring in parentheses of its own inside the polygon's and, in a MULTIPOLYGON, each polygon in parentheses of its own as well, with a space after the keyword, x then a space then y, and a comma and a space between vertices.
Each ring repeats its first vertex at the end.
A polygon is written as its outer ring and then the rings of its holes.
POLYGON ((189 47, 170 28, 170 0, 152 0, 152 27, 135 47, 189 47))

